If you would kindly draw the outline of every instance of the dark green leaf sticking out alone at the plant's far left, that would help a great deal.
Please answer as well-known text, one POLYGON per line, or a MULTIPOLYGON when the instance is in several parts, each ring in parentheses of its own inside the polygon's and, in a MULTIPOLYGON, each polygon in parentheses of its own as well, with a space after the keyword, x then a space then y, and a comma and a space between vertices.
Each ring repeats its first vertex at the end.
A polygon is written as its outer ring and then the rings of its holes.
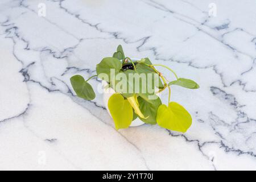
POLYGON ((85 100, 93 100, 95 98, 92 86, 84 80, 84 77, 75 75, 70 78, 70 81, 78 97, 84 98, 85 100))

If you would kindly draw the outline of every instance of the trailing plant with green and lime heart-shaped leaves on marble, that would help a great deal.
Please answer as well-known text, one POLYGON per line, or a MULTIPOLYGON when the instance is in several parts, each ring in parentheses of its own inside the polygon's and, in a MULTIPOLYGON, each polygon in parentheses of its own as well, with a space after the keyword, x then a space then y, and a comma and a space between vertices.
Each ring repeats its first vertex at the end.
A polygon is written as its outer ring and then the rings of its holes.
MULTIPOLYGON (((197 89, 199 85, 187 78, 179 78, 166 65, 152 64, 148 58, 132 60, 125 56, 122 46, 117 47, 112 57, 105 57, 96 65, 98 77, 105 81, 105 89, 114 90, 108 100, 108 110, 114 120, 115 129, 125 129, 134 119, 144 123, 156 123, 169 130, 185 133, 192 124, 191 115, 183 106, 170 102, 171 86, 178 85, 188 89, 197 89), (156 69, 164 67, 176 77, 167 81, 156 69), (158 93, 168 89, 168 105, 162 104, 158 93)), ((71 77, 71 84, 78 97, 93 100, 96 96, 92 86, 80 75, 71 77)))

